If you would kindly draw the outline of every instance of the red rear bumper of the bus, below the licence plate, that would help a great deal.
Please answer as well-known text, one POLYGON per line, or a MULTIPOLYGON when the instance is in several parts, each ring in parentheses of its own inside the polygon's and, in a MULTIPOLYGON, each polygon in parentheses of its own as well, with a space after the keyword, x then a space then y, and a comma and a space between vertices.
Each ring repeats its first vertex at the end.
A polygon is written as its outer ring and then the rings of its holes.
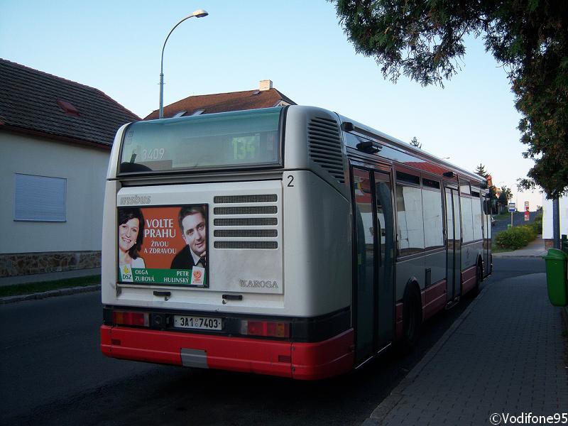
POLYGON ((337 376, 353 368, 354 333, 349 329, 317 343, 101 327, 101 350, 113 358, 182 365, 182 349, 200 351, 206 367, 302 380, 337 376))

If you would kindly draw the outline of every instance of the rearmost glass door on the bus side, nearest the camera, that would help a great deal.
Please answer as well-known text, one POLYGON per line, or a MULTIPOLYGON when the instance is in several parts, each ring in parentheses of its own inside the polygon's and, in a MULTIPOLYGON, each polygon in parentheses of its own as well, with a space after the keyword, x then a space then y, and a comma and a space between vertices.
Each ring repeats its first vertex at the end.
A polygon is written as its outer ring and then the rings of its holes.
POLYGON ((393 204, 388 173, 353 168, 356 364, 388 346, 394 332, 393 204))

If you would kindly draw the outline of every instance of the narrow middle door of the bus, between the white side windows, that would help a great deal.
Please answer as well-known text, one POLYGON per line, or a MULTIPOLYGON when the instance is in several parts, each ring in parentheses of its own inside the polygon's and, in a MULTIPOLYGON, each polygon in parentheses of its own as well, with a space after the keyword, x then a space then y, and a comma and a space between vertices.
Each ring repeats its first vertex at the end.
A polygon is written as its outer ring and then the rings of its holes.
POLYGON ((446 302, 461 294, 461 222, 457 187, 445 187, 446 193, 446 302))

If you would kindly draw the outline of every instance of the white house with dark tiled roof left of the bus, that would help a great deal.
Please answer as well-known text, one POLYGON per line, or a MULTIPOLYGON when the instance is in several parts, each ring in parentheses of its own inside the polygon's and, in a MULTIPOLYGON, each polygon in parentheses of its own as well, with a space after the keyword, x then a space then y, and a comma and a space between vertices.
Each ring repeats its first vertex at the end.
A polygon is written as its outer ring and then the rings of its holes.
POLYGON ((93 87, 0 59, 0 278, 100 266, 114 135, 140 118, 93 87))

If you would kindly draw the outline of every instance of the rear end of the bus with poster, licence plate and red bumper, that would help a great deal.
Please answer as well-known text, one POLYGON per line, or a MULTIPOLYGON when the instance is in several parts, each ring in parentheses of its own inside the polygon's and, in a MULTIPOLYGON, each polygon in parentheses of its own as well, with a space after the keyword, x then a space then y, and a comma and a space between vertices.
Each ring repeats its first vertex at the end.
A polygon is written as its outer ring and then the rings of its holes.
POLYGON ((119 129, 102 352, 319 379, 354 363, 351 207, 337 115, 278 107, 119 129))

